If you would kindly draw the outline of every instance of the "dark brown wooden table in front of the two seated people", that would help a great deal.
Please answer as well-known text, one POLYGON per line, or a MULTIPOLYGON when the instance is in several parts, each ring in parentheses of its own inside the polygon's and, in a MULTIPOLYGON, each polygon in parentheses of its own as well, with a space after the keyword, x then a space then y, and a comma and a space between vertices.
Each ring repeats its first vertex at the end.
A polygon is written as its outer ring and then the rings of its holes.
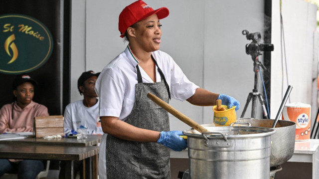
POLYGON ((99 147, 92 145, 97 145, 101 138, 100 135, 88 135, 87 139, 81 140, 77 138, 5 140, 0 141, 0 158, 64 160, 70 166, 72 179, 74 178, 73 161, 85 161, 84 159, 89 158, 93 163, 93 179, 97 179, 99 147))

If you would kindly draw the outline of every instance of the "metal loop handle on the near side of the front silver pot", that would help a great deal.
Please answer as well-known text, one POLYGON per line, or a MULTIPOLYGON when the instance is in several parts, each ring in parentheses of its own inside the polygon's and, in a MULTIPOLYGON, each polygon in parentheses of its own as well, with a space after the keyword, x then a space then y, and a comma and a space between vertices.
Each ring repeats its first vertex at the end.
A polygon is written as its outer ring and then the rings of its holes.
POLYGON ((205 138, 204 145, 206 147, 230 147, 233 145, 233 141, 230 141, 227 139, 227 137, 220 132, 203 132, 202 136, 205 138), (219 134, 223 137, 223 140, 221 139, 209 139, 207 135, 214 135, 219 134))

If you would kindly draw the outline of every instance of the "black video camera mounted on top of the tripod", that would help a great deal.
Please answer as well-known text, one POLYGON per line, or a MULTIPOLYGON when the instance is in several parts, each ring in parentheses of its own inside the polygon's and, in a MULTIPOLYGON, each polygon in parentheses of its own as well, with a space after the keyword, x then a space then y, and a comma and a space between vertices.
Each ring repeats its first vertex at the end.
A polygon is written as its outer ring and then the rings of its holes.
POLYGON ((261 55, 261 51, 274 51, 274 45, 270 43, 260 43, 260 32, 249 33, 248 30, 241 32, 246 35, 247 40, 253 40, 250 44, 246 44, 246 53, 253 57, 261 55))

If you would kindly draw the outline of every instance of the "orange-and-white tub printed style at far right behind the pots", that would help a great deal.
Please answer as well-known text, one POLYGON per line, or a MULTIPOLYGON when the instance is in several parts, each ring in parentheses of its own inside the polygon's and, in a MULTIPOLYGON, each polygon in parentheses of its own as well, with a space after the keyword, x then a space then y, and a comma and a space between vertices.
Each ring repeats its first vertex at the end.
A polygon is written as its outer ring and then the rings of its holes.
POLYGON ((308 140, 311 132, 311 107, 307 104, 294 104, 284 107, 282 119, 296 123, 296 140, 308 140))

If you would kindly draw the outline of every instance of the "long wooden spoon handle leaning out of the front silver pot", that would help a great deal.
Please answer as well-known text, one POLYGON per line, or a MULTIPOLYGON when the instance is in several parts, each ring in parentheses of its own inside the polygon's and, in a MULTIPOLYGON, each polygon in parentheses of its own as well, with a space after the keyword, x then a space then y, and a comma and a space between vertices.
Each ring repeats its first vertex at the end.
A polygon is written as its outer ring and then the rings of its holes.
POLYGON ((150 98, 152 101, 154 101, 160 107, 162 107, 164 110, 166 110, 167 112, 169 112, 170 114, 172 114, 173 116, 175 116, 177 119, 181 120, 182 122, 184 122, 188 126, 194 128, 198 132, 200 132, 200 133, 209 132, 207 129, 205 129, 204 127, 202 127, 201 125, 199 125, 195 121, 191 120, 190 118, 188 118, 187 116, 185 116, 181 112, 177 111, 172 106, 170 106, 169 104, 167 104, 165 101, 161 100, 159 97, 155 96, 154 94, 148 93, 148 98, 150 98))

